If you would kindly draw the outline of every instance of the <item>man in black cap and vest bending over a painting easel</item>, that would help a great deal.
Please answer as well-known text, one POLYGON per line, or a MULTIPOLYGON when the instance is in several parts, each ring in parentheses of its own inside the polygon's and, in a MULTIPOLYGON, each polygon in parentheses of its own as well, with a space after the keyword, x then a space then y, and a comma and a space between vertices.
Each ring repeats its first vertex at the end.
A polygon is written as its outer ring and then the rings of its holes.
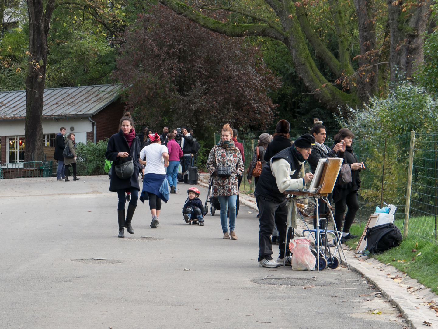
POLYGON ((274 155, 261 171, 254 196, 259 198, 260 231, 258 235, 258 262, 259 266, 277 268, 280 265, 291 265, 292 257, 284 252, 287 227, 287 206, 284 191, 299 189, 306 186, 313 178, 308 172, 303 178, 298 178, 301 166, 312 151, 315 139, 309 135, 298 137, 291 147, 274 155), (279 239, 279 257, 272 259, 272 230, 277 225, 279 239))

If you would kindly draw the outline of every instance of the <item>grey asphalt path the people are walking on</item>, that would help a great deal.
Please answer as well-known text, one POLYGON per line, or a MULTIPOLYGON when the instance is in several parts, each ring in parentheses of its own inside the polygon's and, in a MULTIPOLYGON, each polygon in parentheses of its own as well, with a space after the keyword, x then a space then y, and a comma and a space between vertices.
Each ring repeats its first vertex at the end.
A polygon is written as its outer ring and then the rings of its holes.
POLYGON ((222 239, 218 213, 186 224, 188 185, 157 229, 139 202, 135 234, 117 238, 108 187, 107 177, 0 180, 0 328, 406 328, 346 268, 258 267, 250 208, 240 207, 239 240, 222 239))

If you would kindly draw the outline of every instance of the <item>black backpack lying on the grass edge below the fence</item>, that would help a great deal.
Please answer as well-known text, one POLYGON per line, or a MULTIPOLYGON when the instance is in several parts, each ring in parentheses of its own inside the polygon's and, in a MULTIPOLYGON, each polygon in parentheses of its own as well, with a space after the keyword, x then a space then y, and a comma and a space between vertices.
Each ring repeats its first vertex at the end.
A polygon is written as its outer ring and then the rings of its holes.
POLYGON ((371 254, 379 254, 392 247, 396 247, 402 241, 400 229, 393 223, 382 224, 367 228, 365 240, 367 249, 371 254))

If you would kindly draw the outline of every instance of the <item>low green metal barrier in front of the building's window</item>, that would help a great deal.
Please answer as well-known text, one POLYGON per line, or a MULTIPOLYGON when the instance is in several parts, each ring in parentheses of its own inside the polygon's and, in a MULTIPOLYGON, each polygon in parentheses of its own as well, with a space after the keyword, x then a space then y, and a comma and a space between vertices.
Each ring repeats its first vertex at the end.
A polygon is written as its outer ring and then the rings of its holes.
POLYGON ((52 177, 53 161, 4 163, 0 166, 0 179, 52 177))

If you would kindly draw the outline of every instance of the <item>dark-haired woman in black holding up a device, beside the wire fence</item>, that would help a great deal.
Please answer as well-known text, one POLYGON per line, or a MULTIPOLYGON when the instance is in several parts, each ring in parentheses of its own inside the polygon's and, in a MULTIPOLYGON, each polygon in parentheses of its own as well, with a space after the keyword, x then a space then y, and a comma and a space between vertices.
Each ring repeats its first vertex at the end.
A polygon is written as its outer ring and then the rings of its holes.
MULTIPOLYGON (((356 217, 357 210, 359 209, 359 202, 357 201, 357 191, 360 187, 360 170, 365 168, 363 162, 358 162, 354 155, 351 143, 353 143, 354 134, 348 128, 340 129, 334 137, 335 143, 345 143, 345 152, 339 150, 336 154, 338 157, 343 158, 343 164, 348 164, 351 168, 351 182, 340 185, 336 184, 333 189, 333 201, 335 202, 335 222, 336 228, 341 229, 345 205, 348 206, 348 211, 345 215, 344 228, 342 231, 341 243, 345 243, 346 240, 357 238, 357 236, 350 233, 350 227, 356 217)), ((336 144, 335 144, 336 145, 336 144)), ((334 145, 333 145, 334 147, 334 145)), ((340 175, 340 173, 339 173, 340 175)))

